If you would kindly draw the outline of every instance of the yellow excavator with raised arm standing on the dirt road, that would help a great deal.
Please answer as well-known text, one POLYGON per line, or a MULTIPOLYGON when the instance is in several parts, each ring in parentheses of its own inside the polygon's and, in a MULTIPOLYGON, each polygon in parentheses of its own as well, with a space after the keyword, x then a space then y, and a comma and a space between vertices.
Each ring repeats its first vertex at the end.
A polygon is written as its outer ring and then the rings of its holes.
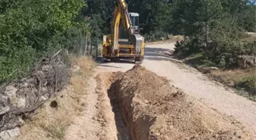
POLYGON ((139 34, 139 14, 128 13, 125 0, 118 0, 111 20, 111 33, 104 36, 102 56, 104 61, 114 61, 122 58, 132 58, 134 62, 142 63, 144 59, 144 37, 139 34), (128 39, 120 40, 120 21, 126 30, 128 39))

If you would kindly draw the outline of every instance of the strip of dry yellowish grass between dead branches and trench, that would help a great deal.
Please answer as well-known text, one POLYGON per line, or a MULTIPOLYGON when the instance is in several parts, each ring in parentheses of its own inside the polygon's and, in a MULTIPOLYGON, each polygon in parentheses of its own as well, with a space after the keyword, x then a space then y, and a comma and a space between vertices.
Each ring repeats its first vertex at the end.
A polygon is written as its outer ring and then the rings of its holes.
POLYGON ((64 139, 67 128, 74 117, 82 114, 88 105, 88 82, 91 78, 95 62, 91 58, 72 56, 72 76, 69 86, 47 101, 36 116, 21 127, 18 139, 64 139))

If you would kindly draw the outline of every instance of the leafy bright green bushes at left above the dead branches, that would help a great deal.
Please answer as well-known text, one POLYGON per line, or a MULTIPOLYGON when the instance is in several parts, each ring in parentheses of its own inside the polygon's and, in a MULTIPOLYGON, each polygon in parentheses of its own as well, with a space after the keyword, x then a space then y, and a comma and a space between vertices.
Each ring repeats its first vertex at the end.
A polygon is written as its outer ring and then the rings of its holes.
POLYGON ((83 6, 82 0, 2 0, 0 79, 24 75, 37 58, 66 45, 57 39, 75 26, 72 19, 83 6))

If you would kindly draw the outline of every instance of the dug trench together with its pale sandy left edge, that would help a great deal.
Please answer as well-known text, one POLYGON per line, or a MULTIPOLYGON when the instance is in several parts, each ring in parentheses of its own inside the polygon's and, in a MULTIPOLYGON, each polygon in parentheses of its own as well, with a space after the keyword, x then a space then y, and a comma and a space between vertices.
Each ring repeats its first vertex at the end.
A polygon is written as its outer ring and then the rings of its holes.
POLYGON ((100 73, 95 77, 97 80, 98 114, 94 120, 101 123, 98 137, 101 140, 131 140, 129 129, 123 120, 117 96, 109 89, 113 81, 113 73, 100 73))

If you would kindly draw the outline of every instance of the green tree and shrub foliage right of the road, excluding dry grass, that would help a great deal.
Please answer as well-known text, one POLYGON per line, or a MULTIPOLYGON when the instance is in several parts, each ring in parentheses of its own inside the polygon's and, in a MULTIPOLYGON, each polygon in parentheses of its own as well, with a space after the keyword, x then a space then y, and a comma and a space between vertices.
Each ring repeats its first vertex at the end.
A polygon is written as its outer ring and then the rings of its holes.
MULTIPOLYGON (((181 2, 181 1, 180 1, 181 2)), ((256 53, 255 42, 245 42, 245 32, 254 32, 254 5, 242 0, 203 0, 179 3, 185 42, 176 45, 178 55, 203 54, 203 62, 222 68, 235 67, 238 55, 256 53), (187 11, 189 10, 189 11, 187 11)))

